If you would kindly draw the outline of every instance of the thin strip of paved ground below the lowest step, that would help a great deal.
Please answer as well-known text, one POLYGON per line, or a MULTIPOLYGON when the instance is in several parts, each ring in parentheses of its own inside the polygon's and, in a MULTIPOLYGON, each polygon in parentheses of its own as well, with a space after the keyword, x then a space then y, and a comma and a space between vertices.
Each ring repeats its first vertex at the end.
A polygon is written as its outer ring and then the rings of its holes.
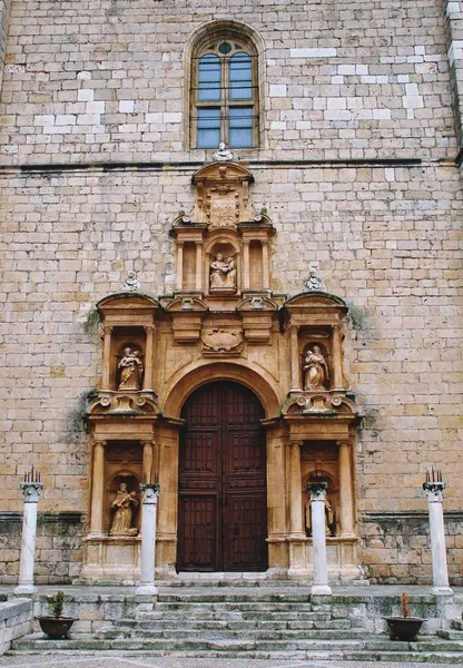
MULTIPOLYGON (((393 668, 420 668, 424 664, 393 664, 393 668)), ((462 658, 463 666, 463 658, 462 658)), ((358 661, 294 661, 258 659, 184 659, 108 656, 59 657, 59 659, 35 656, 0 657, 2 668, 392 668, 390 662, 358 661)), ((426 668, 449 668, 443 664, 426 664, 426 668)))

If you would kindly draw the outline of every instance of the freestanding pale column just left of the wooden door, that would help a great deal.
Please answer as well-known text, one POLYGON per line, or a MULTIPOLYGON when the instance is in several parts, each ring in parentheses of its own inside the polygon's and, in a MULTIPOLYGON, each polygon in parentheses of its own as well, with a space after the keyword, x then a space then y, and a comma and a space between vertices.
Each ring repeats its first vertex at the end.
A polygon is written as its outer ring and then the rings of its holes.
POLYGON ((156 514, 159 498, 158 483, 141 483, 141 566, 140 583, 135 593, 155 595, 156 514))

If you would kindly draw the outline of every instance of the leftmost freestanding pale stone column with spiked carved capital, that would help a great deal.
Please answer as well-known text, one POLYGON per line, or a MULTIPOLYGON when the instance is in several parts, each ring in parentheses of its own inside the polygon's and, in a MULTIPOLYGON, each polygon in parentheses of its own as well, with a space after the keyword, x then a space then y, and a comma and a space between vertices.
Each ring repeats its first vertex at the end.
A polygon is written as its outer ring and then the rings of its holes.
POLYGON ((21 482, 21 490, 24 495, 24 514, 22 517, 22 539, 21 558, 19 562, 19 580, 14 593, 30 593, 36 590, 33 584, 33 561, 36 551, 37 534, 37 510, 40 499, 40 490, 43 483, 36 472, 33 480, 33 469, 21 482), (29 478, 31 480, 29 480, 29 478))

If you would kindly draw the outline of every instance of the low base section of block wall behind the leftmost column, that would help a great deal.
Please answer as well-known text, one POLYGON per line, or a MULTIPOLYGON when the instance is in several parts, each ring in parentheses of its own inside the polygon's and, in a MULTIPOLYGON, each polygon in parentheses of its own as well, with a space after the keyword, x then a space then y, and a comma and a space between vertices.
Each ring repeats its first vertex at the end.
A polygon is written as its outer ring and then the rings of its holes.
MULTIPOLYGON (((22 515, 0 513, 0 582, 16 584, 19 573, 22 515)), ((39 513, 37 522, 37 584, 70 583, 80 572, 82 559, 80 513, 39 513)))

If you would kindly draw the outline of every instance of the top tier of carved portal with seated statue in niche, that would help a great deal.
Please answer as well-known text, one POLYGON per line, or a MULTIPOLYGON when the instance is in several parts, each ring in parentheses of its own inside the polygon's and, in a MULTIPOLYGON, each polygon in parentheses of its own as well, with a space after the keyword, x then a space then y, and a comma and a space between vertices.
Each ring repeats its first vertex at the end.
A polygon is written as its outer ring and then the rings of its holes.
POLYGON ((265 212, 252 209, 253 181, 236 163, 213 163, 194 175, 195 208, 170 233, 177 294, 207 296, 209 307, 220 310, 246 293, 270 292, 275 229, 265 212))

